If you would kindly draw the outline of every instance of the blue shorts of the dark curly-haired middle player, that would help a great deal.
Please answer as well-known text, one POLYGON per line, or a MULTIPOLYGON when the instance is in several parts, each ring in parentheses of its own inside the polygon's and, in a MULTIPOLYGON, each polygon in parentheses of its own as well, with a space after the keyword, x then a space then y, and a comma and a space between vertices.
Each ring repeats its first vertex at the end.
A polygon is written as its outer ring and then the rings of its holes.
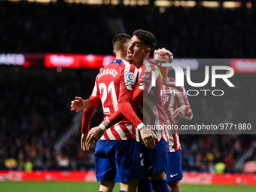
POLYGON ((145 176, 148 177, 153 172, 166 172, 167 169, 167 148, 168 142, 161 139, 156 142, 154 148, 147 148, 142 145, 142 151, 145 162, 145 176))

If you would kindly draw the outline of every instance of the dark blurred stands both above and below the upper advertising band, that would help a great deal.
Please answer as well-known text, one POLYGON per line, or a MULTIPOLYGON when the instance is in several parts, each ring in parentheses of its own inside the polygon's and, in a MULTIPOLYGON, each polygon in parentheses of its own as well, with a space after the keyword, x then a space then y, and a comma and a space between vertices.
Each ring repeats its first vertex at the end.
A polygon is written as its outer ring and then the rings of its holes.
MULTIPOLYGON (((240 1, 238 8, 224 8, 222 1, 218 8, 201 6, 200 1, 192 8, 161 8, 157 1, 134 6, 123 5, 127 1, 67 2, 0 1, 0 54, 112 55, 114 35, 145 29, 156 36, 156 48, 166 47, 175 58, 256 58, 253 1, 240 1)), ((0 65, 0 169, 10 169, 6 160, 12 158, 17 161, 15 170, 23 170, 28 162, 33 170, 94 169, 93 148, 81 151, 80 127, 59 148, 54 146, 72 128, 75 112, 70 111, 70 102, 75 96, 90 96, 98 72, 0 65)), ((204 73, 194 72, 192 78, 203 81, 204 73)), ((250 122, 255 128, 255 75, 235 74, 231 81, 236 88, 223 86, 221 98, 188 97, 194 112, 191 124, 250 122)), ((101 120, 102 111, 97 109, 91 126, 101 120)), ((222 162, 225 172, 243 172, 236 166, 239 160, 256 161, 254 135, 181 135, 180 139, 185 171, 214 172, 215 163, 222 162)))

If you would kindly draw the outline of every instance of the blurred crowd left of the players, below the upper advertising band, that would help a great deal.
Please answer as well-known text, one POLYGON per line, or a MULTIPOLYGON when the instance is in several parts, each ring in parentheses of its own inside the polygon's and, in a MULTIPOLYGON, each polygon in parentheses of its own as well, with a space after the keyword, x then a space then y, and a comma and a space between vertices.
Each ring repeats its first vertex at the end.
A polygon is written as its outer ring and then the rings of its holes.
MULTIPOLYGON (((0 169, 6 169, 8 158, 17 160, 18 169, 23 169, 27 161, 33 163, 34 169, 58 169, 58 165, 65 168, 64 157, 69 162, 81 160, 80 132, 78 138, 69 139, 62 151, 54 150, 54 144, 75 115, 70 111, 71 100, 77 95, 90 96, 96 74, 90 78, 88 73, 70 70, 68 75, 49 69, 15 72, 4 66, 0 71, 0 169)), ((97 116, 102 118, 102 114, 97 116)), ((82 153, 83 157, 87 155, 82 153)))

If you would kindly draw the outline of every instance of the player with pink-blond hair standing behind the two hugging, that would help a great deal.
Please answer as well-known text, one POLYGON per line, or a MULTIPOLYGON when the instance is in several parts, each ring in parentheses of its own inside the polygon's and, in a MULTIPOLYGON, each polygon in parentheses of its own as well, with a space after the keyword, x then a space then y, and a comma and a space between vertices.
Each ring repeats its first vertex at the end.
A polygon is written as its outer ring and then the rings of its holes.
MULTIPOLYGON (((154 51, 154 62, 159 65, 162 63, 171 63, 172 59, 172 53, 165 48, 154 51)), ((166 75, 168 75, 171 67, 162 67, 166 75)), ((175 79, 168 77, 166 78, 165 75, 163 75, 163 90, 166 90, 166 92, 163 94, 163 105, 164 112, 166 114, 167 125, 178 125, 178 121, 182 118, 184 120, 191 120, 193 113, 191 111, 184 87, 175 87, 175 79)), ((169 189, 172 192, 181 191, 179 181, 182 177, 181 144, 179 142, 178 132, 176 130, 169 130, 168 165, 166 178, 169 189)))

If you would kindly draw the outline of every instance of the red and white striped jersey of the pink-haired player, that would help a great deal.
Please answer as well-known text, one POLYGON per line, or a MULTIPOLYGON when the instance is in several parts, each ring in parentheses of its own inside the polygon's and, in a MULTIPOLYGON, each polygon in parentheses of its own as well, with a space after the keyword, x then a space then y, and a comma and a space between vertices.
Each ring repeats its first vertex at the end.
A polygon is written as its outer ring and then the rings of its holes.
MULTIPOLYGON (((175 79, 171 78, 168 83, 163 84, 163 90, 163 106, 167 125, 171 126, 173 124, 178 126, 178 122, 172 120, 172 114, 175 109, 179 107, 183 108, 185 111, 183 119, 191 120, 193 113, 184 87, 175 87, 175 79)), ((168 152, 175 152, 178 151, 178 149, 181 149, 178 132, 169 130, 168 152)))

